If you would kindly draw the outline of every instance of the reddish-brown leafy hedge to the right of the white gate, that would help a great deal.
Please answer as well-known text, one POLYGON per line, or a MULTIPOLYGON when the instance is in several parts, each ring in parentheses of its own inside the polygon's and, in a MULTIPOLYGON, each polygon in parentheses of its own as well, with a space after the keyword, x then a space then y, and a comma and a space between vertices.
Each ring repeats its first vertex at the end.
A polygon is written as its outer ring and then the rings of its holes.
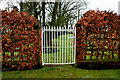
POLYGON ((89 59, 120 59, 120 16, 110 11, 87 11, 77 22, 77 63, 89 59), (88 52, 89 51, 89 52, 88 52))

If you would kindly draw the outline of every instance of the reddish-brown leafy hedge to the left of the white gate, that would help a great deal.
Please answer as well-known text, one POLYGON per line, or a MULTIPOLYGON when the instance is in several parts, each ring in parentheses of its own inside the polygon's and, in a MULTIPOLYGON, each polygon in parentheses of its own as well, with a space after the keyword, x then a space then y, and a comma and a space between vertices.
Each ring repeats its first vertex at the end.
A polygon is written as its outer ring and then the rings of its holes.
MULTIPOLYGON (((27 12, 16 12, 2 10, 2 55, 3 65, 23 69, 38 64, 39 49, 41 49, 41 37, 38 37, 37 30, 33 26, 38 23, 37 19, 27 12), (40 47, 39 47, 39 45, 40 47), (5 54, 11 52, 11 55, 5 54), (18 54, 14 55, 14 52, 18 54), (18 65, 12 62, 18 61, 18 65)), ((41 35, 41 31, 39 30, 41 35)))

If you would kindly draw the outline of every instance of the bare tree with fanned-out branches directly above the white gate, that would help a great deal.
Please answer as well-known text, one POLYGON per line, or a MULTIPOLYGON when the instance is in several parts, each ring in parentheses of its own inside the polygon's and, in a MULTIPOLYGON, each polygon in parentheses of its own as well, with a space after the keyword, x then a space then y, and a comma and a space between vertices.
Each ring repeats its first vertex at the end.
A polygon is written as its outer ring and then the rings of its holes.
POLYGON ((81 13, 87 8, 84 0, 80 0, 79 2, 55 2, 49 3, 48 6, 49 8, 46 9, 49 17, 47 21, 49 25, 55 23, 55 25, 57 24, 58 26, 70 25, 70 22, 78 19, 81 13))

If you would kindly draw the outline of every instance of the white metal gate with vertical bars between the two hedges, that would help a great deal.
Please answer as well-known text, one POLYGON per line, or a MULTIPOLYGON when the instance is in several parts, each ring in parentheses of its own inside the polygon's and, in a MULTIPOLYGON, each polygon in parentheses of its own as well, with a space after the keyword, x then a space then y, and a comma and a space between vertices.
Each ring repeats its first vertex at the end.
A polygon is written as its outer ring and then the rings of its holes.
POLYGON ((76 28, 42 28, 42 65, 75 64, 76 28))

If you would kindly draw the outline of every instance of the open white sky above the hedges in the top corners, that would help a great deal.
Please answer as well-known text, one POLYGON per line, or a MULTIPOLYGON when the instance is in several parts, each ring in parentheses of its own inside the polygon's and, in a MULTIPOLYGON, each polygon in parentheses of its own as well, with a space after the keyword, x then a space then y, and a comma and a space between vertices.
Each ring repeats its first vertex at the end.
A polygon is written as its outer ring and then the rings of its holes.
MULTIPOLYGON (((2 1, 9 1, 9 0, 2 0, 2 1)), ((86 1, 87 1, 87 5, 88 5, 87 10, 97 10, 97 8, 98 8, 99 10, 102 10, 102 11, 112 10, 115 13, 118 13, 118 2, 120 0, 86 0, 86 1)), ((17 5, 17 4, 15 4, 15 5, 17 5)), ((4 9, 6 6, 7 6, 6 2, 2 2, 0 4, 0 9, 4 9)))

